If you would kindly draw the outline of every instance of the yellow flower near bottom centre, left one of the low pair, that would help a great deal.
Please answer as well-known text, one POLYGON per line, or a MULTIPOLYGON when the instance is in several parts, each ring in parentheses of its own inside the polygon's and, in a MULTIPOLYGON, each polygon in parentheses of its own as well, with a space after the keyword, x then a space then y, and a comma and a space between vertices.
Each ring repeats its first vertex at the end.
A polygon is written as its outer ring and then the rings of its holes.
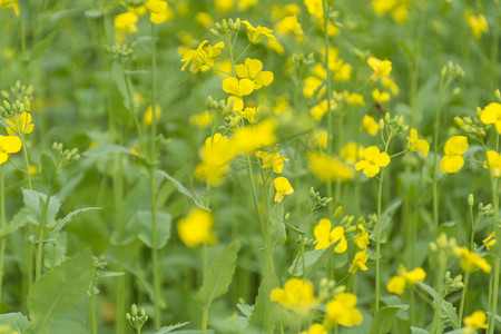
POLYGON ((318 299, 314 295, 313 284, 299 278, 288 279, 284 288, 272 289, 269 299, 278 302, 299 314, 307 314, 312 307, 318 304, 318 299))

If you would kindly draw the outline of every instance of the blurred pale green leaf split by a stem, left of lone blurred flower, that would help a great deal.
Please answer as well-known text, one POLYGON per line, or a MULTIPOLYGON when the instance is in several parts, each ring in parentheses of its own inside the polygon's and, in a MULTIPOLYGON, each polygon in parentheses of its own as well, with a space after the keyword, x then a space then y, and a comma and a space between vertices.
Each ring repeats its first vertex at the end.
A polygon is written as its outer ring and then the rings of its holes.
MULTIPOLYGON (((153 248, 153 234, 151 234, 151 212, 138 212, 137 222, 139 223, 138 238, 145 243, 146 246, 153 248)), ((157 212, 156 214, 156 233, 157 236, 157 249, 164 248, 170 238, 170 222, 171 216, 166 213, 157 212)))

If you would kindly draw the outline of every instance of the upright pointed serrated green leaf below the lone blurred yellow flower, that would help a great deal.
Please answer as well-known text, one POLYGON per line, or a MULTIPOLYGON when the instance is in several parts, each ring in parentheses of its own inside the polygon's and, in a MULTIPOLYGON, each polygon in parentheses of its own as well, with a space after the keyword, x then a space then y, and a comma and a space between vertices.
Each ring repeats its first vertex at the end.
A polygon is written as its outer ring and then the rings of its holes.
POLYGON ((204 277, 200 291, 196 296, 204 305, 210 305, 214 299, 228 291, 233 274, 235 273, 239 249, 240 242, 234 240, 220 252, 219 256, 210 265, 208 273, 204 277))

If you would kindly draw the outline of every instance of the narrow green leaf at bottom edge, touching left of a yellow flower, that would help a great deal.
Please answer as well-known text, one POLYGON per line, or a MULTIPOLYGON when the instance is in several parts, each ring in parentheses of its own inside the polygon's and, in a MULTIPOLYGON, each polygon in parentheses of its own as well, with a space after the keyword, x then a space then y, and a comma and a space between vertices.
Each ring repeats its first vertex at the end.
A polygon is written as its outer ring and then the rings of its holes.
POLYGON ((281 318, 278 303, 269 299, 272 289, 278 286, 278 277, 274 273, 266 275, 261 282, 250 324, 262 333, 275 333, 277 321, 281 318))

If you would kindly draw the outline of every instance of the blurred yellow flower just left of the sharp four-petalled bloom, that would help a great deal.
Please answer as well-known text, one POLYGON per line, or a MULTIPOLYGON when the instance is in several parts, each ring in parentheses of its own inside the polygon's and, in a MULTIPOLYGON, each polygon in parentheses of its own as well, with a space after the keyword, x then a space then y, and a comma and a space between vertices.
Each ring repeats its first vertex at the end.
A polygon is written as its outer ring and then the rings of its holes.
POLYGON ((345 181, 353 178, 353 169, 337 158, 316 151, 307 154, 306 158, 308 159, 310 171, 321 181, 345 181))

